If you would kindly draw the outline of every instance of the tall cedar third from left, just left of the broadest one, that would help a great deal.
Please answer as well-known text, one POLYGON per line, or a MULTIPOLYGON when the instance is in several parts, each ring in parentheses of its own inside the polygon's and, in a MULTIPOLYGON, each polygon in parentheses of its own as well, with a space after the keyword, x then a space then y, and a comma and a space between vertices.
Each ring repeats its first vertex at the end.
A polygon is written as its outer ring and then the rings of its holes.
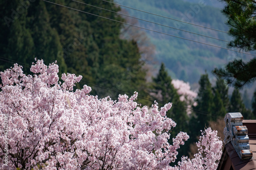
MULTIPOLYGON (((79 10, 84 10, 85 7, 71 1, 57 1, 56 3, 79 10)), ((82 18, 78 11, 54 4, 47 4, 47 9, 51 16, 51 27, 57 30, 62 45, 57 56, 63 55, 68 72, 81 75, 83 79, 95 83, 93 69, 98 67, 99 48, 90 36, 92 34, 90 22, 86 16, 82 18)), ((84 82, 81 82, 80 87, 83 84, 84 82)))

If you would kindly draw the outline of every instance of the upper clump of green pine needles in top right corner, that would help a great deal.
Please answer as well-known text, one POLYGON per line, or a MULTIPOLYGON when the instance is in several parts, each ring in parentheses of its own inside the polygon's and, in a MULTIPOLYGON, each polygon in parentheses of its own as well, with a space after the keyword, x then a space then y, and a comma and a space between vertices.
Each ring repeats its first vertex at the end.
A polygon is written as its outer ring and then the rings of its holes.
POLYGON ((252 0, 224 0, 223 13, 231 27, 229 34, 234 37, 229 45, 246 51, 256 50, 256 2, 252 0))

